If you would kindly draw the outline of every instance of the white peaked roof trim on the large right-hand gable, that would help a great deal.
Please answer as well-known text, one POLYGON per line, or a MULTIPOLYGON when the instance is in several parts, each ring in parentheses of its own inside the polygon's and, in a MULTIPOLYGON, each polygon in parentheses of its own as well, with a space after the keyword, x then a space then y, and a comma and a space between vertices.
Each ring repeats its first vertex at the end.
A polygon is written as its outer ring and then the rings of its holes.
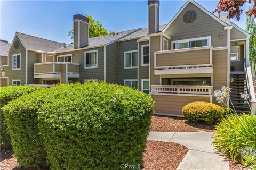
POLYGON ((211 12, 205 10, 204 7, 202 7, 201 5, 197 4, 195 1, 193 0, 189 0, 187 1, 178 11, 178 13, 172 18, 172 20, 166 25, 166 27, 164 28, 164 30, 162 32, 165 32, 170 25, 172 24, 172 22, 180 15, 180 13, 184 10, 184 8, 189 4, 189 2, 191 2, 192 4, 194 4, 195 6, 197 6, 200 10, 202 10, 203 12, 205 12, 206 14, 208 14, 209 16, 211 16, 214 20, 218 21, 220 24, 222 24, 224 27, 229 26, 227 23, 223 22, 221 19, 219 19, 217 16, 215 16, 214 14, 212 14, 211 12))

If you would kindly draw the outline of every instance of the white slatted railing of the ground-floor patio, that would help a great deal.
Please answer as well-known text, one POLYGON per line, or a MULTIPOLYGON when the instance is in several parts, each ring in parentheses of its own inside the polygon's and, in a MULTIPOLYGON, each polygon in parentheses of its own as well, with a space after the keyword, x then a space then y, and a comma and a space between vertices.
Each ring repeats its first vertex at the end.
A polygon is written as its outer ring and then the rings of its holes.
POLYGON ((197 94, 212 95, 213 86, 164 86, 151 85, 151 94, 197 94))

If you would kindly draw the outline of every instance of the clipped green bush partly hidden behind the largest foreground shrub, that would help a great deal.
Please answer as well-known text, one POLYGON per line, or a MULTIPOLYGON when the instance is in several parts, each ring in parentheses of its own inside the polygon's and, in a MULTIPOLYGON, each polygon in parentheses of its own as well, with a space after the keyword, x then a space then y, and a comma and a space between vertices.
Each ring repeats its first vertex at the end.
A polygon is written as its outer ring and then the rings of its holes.
POLYGON ((44 103, 63 97, 65 91, 67 86, 63 85, 44 88, 12 100, 3 107, 13 155, 20 166, 39 169, 46 166, 43 139, 37 125, 37 111, 44 103))

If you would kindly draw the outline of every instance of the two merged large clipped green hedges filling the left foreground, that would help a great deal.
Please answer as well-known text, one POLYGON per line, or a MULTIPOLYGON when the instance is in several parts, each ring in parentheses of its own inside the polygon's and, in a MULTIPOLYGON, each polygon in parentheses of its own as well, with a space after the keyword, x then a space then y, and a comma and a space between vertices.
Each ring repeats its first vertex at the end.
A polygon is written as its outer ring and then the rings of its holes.
POLYGON ((4 113, 21 166, 119 169, 142 164, 153 105, 138 90, 87 82, 22 96, 4 113))

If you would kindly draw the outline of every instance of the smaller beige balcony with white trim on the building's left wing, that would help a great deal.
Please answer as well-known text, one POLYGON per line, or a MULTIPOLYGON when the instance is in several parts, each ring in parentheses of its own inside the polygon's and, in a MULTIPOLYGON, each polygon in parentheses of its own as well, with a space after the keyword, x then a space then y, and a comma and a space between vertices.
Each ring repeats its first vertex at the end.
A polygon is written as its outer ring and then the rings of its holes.
POLYGON ((77 63, 35 63, 34 78, 79 78, 79 64, 77 63))

